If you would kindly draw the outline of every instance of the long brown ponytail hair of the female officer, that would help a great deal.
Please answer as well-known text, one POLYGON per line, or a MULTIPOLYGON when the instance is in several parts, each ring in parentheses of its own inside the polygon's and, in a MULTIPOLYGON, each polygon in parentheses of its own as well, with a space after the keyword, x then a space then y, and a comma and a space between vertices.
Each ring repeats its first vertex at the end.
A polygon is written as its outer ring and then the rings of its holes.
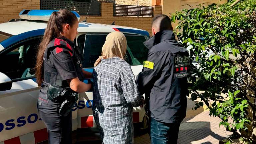
POLYGON ((39 45, 37 52, 37 61, 35 66, 35 76, 37 78, 38 86, 41 86, 43 82, 43 57, 44 51, 47 48, 47 45, 50 41, 55 38, 60 37, 60 33, 63 30, 63 24, 69 24, 72 26, 76 21, 77 17, 74 13, 69 10, 59 10, 51 14, 47 27, 44 32, 44 37, 39 45))

